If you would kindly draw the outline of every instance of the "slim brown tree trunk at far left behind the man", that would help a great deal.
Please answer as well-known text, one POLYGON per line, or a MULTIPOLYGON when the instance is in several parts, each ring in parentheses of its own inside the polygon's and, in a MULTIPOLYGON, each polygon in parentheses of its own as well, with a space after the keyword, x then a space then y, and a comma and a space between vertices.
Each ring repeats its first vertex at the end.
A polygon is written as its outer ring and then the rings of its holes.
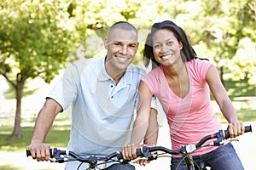
POLYGON ((16 111, 15 111, 15 128, 13 133, 9 136, 9 139, 20 139, 23 137, 21 131, 21 99, 22 89, 24 86, 23 81, 17 81, 16 85, 16 111))

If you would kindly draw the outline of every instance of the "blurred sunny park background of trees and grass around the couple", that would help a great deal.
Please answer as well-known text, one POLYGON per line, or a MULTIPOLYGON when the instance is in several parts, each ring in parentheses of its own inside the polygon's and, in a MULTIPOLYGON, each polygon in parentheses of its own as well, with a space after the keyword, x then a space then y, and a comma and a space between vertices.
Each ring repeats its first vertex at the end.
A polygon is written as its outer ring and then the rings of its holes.
MULTIPOLYGON (((210 59, 218 68, 240 121, 256 126, 255 0, 3 0, 0 2, 0 169, 63 169, 63 165, 26 158, 35 118, 44 105, 45 94, 68 64, 105 54, 102 40, 108 27, 119 20, 137 27, 140 47, 133 64, 141 67, 150 26, 163 20, 181 26, 198 57, 210 59)), ((227 122, 213 100, 212 105, 226 127, 227 122)), ((171 147, 163 114, 159 122, 159 144, 171 147)), ((66 148, 69 127, 64 112, 57 116, 46 142, 66 148)), ((249 133, 236 143, 246 169, 250 168, 248 165, 253 168, 250 158, 256 157, 253 139, 256 139, 254 133, 249 133)), ((164 161, 156 162, 159 166, 164 161)), ((166 165, 169 166, 169 160, 166 165)), ((148 165, 146 169, 154 167, 148 165)))

